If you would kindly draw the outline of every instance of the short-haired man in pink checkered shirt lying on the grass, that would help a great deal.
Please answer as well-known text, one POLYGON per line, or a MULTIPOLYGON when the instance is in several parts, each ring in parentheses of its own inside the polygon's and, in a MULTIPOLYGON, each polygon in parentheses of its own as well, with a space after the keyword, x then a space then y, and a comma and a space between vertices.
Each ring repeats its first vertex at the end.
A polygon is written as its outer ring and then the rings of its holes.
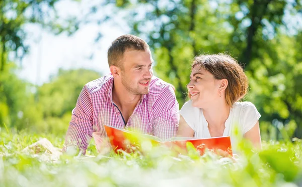
POLYGON ((153 77, 149 46, 123 35, 108 49, 111 74, 89 82, 72 111, 63 151, 76 145, 83 154, 92 137, 98 151, 110 146, 104 125, 134 129, 166 139, 176 135, 178 102, 173 88, 153 77))

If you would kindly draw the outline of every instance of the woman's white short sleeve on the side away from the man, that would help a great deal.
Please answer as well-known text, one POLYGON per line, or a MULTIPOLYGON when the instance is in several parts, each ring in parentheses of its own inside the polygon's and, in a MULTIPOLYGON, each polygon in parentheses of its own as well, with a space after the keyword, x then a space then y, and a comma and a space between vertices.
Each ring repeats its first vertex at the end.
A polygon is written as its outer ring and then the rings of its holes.
POLYGON ((243 102, 240 117, 243 122, 243 134, 245 134, 255 126, 261 115, 253 103, 243 102))

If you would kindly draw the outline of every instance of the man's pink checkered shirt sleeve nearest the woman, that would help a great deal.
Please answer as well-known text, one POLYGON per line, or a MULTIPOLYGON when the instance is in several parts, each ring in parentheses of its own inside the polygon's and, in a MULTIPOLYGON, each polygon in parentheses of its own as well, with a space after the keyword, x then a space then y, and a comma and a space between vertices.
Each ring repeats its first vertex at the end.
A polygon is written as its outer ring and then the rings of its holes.
POLYGON ((176 136, 179 123, 179 105, 171 86, 164 87, 154 106, 154 135, 161 139, 176 136))

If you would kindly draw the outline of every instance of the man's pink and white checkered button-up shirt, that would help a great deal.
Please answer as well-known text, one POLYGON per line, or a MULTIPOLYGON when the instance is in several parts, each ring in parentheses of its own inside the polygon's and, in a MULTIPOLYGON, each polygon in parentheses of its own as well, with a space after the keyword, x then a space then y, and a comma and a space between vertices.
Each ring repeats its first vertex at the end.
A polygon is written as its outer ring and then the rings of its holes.
POLYGON ((78 146, 85 154, 92 137, 99 152, 110 146, 104 128, 106 124, 155 135, 161 139, 176 135, 179 105, 169 84, 153 77, 149 93, 142 95, 126 126, 119 120, 118 110, 113 105, 112 86, 112 75, 84 86, 77 105, 72 110, 63 151, 69 146, 78 146))

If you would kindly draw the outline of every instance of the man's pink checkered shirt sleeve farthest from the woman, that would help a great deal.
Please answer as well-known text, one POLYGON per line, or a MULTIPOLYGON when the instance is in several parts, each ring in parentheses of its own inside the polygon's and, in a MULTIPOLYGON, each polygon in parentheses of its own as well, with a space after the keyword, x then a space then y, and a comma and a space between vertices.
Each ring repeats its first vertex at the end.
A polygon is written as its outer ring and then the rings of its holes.
POLYGON ((63 152, 68 147, 78 147, 83 154, 92 138, 93 107, 91 97, 85 86, 80 93, 77 104, 72 110, 71 120, 65 137, 63 152))

